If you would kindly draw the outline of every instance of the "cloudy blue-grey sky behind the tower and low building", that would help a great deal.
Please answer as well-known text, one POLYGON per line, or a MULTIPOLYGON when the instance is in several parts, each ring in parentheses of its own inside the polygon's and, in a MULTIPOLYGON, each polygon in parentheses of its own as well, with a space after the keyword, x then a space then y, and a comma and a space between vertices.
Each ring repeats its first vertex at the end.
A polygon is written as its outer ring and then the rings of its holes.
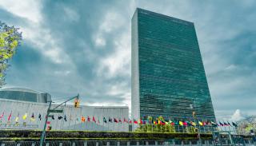
POLYGON ((256 114, 256 2, 0 0, 23 32, 6 87, 80 93, 84 105, 130 106, 130 20, 136 7, 194 22, 218 120, 256 114))

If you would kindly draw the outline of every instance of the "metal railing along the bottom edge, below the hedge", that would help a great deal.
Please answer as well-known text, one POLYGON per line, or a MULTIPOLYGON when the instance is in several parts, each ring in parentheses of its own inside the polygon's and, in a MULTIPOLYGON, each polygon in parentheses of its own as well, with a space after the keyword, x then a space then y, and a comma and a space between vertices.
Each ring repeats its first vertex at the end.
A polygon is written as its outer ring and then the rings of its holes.
MULTIPOLYGON (((38 146, 39 141, 2 141, 0 146, 38 146)), ((44 146, 214 146, 214 145, 231 145, 229 141, 222 141, 216 144, 211 140, 202 140, 199 144, 198 140, 77 140, 77 141, 46 141, 44 146)), ((252 140, 237 141, 237 146, 256 146, 256 142, 252 140)))

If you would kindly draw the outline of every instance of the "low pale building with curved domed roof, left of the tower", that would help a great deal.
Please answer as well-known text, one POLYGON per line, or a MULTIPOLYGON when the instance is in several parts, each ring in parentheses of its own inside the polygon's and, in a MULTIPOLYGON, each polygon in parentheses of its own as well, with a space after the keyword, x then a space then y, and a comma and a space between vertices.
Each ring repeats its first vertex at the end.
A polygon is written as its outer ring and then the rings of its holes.
MULTIPOLYGON (((31 89, 0 90, 0 129, 42 129, 51 96, 31 89)), ((52 104, 52 109, 57 104, 52 104)), ((53 130, 128 131, 127 106, 62 105, 50 113, 47 127, 53 130)))

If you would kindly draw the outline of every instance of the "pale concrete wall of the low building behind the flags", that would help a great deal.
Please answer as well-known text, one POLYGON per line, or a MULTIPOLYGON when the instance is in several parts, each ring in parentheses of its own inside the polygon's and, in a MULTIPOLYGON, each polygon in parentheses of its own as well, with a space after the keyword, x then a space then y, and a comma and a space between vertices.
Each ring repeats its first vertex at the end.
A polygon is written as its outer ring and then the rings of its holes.
MULTIPOLYGON (((53 108, 55 106, 52 105, 53 108)), ((47 108, 48 105, 42 103, 0 99, 0 128, 42 129, 47 108), (34 120, 31 119, 33 114, 34 120), (42 120, 38 118, 39 114, 42 120), (24 120, 22 117, 25 115, 27 116, 24 120), (8 120, 9 117, 10 120, 8 120), (17 117, 18 124, 15 125, 17 117), (25 123, 26 126, 23 125, 25 123)), ((129 109, 126 106, 81 105, 79 108, 74 108, 73 105, 63 105, 59 109, 63 109, 63 113, 51 113, 50 115, 54 115, 54 120, 51 117, 48 120, 54 130, 128 131, 128 123, 124 122, 124 119, 129 118, 129 109), (62 119, 58 120, 58 116, 62 116, 62 119), (82 122, 82 116, 85 116, 86 122, 82 122), (90 122, 87 121, 88 116, 90 116, 90 122), (92 121, 93 116, 96 123, 92 121), (106 118, 107 123, 103 122, 103 117, 106 118), (109 122, 109 118, 113 119, 112 123, 109 122), (122 120, 122 123, 114 123, 114 118, 122 120)))

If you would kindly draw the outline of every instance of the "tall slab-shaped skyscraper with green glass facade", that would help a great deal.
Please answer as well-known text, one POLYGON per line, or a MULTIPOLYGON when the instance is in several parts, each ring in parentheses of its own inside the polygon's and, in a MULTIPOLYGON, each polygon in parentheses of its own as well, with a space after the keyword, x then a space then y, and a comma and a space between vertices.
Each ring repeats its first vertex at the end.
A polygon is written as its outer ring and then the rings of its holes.
POLYGON ((134 119, 215 120, 194 23, 138 8, 131 58, 134 119))

